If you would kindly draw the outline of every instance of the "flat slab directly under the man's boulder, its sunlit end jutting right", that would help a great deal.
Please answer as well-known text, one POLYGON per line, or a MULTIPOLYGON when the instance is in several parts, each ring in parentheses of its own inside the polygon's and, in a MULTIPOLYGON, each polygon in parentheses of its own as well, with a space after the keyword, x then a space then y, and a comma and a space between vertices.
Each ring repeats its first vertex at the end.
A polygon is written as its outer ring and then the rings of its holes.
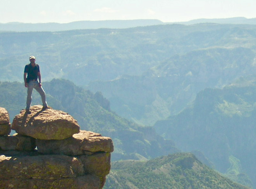
POLYGON ((80 155, 114 151, 111 138, 86 130, 64 140, 36 139, 36 146, 38 152, 43 154, 80 155))

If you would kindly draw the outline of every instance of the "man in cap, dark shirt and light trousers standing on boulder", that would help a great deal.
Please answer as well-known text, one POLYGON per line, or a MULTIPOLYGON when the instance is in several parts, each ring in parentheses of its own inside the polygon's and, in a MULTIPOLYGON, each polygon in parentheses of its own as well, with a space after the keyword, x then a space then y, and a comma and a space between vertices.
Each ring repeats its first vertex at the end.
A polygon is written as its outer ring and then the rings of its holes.
POLYGON ((29 108, 32 100, 32 91, 34 88, 41 95, 42 102, 43 102, 43 109, 48 108, 48 105, 46 102, 45 92, 41 84, 41 75, 40 75, 39 65, 36 64, 35 56, 30 56, 29 61, 30 61, 30 64, 27 64, 24 69, 24 83, 25 83, 25 87, 28 88, 26 113, 31 114, 29 108))

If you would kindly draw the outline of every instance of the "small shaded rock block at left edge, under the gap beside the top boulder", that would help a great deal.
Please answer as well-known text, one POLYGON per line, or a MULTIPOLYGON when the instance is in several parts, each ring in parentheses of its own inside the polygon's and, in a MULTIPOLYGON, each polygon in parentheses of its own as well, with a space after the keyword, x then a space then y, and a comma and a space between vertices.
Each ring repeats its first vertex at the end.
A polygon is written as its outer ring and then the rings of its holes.
POLYGON ((20 134, 0 136, 0 150, 30 151, 36 148, 36 139, 20 134))

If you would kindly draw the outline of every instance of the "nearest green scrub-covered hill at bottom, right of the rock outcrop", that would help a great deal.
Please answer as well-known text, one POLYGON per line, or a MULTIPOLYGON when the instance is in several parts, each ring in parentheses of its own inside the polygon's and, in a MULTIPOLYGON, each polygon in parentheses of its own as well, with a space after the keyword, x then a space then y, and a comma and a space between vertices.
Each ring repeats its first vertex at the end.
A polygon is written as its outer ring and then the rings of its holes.
POLYGON ((104 189, 249 189, 206 167, 192 154, 111 164, 104 189))

